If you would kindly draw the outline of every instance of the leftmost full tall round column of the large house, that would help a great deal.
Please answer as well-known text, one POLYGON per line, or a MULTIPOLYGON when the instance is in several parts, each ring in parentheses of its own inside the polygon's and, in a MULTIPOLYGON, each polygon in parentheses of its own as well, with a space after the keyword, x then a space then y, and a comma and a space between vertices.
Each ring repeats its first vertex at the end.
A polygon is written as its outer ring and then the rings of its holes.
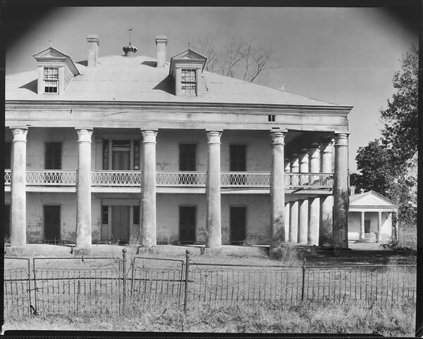
POLYGON ((11 164, 11 247, 26 245, 27 128, 13 128, 11 164))

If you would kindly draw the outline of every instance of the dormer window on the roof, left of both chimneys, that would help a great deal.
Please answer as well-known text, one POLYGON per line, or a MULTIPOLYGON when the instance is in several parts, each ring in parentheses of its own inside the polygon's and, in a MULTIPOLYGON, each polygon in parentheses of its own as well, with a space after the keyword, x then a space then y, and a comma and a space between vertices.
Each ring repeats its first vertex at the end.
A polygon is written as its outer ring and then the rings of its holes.
POLYGON ((78 68, 69 56, 49 47, 34 55, 38 63, 38 94, 64 94, 78 68))

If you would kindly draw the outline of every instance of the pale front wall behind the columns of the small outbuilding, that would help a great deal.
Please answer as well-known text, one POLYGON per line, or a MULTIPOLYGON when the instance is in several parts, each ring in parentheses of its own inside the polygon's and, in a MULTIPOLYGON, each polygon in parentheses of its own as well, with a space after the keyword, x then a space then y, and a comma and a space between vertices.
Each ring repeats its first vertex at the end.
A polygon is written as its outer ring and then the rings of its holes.
MULTIPOLYGON (((370 221, 370 233, 377 234, 377 212, 366 212, 364 221, 370 221)), ((348 240, 360 238, 361 213, 348 212, 348 240)), ((382 212, 382 241, 386 242, 392 234, 392 217, 390 212, 382 212)))

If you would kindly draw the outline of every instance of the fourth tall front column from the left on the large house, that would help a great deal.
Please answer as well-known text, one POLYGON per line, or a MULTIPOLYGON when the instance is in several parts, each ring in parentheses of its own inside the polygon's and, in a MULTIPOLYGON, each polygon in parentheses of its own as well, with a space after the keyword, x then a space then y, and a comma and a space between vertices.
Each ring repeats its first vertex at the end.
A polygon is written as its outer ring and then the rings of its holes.
POLYGON ((207 221, 206 248, 221 248, 221 170, 220 138, 222 132, 207 131, 207 221))

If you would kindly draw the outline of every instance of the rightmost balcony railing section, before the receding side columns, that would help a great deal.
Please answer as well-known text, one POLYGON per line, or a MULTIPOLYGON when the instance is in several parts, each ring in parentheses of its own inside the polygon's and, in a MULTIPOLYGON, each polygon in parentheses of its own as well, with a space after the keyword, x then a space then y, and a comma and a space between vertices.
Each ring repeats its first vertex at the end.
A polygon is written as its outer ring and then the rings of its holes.
POLYGON ((288 188, 332 188, 332 173, 285 173, 285 186, 288 188))

